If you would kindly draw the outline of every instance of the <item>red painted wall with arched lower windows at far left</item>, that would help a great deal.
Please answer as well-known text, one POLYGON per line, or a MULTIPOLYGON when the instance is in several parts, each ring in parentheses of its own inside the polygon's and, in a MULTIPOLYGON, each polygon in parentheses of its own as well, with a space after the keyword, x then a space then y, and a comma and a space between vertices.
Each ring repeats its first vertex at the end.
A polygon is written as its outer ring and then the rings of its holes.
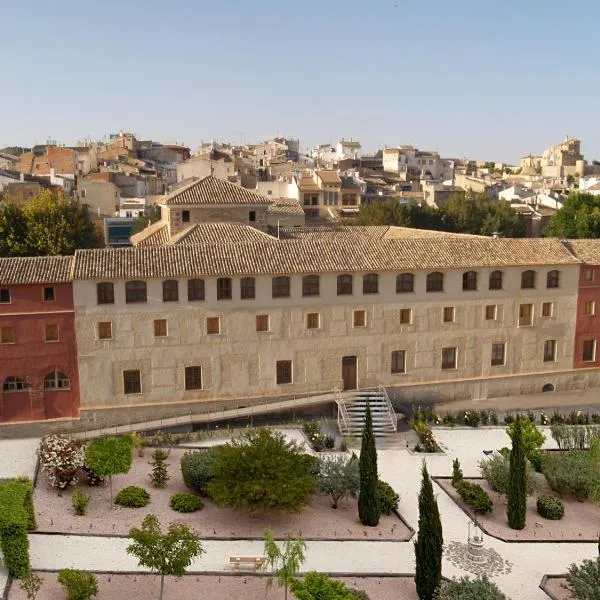
MULTIPOLYGON (((1 282, 0 282, 0 285, 1 282)), ((0 422, 79 416, 79 371, 70 283, 3 286, 10 303, 0 303, 0 326, 15 328, 16 343, 0 344, 0 422), (44 302, 44 287, 54 287, 55 301, 44 302), (57 324, 58 342, 46 342, 46 324, 57 324), (45 390, 44 378, 63 372, 69 389, 45 390), (24 378, 30 389, 4 391, 7 377, 24 378)))

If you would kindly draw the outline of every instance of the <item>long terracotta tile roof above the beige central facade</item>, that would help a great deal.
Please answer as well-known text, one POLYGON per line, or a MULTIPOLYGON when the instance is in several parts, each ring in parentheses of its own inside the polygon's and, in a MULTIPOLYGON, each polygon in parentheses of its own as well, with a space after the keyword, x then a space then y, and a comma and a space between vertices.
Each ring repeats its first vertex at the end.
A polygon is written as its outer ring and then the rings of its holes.
POLYGON ((78 250, 75 279, 343 273, 578 264, 560 240, 283 240, 78 250))

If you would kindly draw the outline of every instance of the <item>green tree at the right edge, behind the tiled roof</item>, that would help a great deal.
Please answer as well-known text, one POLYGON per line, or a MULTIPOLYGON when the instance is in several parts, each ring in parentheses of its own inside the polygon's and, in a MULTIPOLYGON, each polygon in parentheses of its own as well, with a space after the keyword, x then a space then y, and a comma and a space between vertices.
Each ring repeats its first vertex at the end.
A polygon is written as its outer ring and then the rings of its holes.
POLYGON ((562 208, 550 219, 544 236, 563 239, 600 237, 600 196, 571 192, 562 208))

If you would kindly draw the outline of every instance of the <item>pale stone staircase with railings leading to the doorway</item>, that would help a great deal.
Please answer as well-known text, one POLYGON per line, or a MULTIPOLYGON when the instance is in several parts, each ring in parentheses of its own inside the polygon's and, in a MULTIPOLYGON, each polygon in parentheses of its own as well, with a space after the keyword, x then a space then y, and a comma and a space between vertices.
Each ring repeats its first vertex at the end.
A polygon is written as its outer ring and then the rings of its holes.
POLYGON ((338 428, 346 437, 360 437, 365 422, 367 404, 371 408, 375 437, 386 437, 398 430, 397 417, 385 387, 338 392, 338 428))

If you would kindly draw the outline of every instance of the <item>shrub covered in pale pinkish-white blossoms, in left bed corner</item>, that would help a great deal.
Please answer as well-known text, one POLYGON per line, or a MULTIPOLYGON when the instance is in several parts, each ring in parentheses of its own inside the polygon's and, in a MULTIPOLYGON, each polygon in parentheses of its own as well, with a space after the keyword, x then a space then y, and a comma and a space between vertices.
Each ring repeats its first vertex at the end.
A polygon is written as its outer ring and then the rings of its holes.
POLYGON ((48 435, 42 439, 38 455, 52 487, 60 491, 77 483, 77 470, 83 467, 84 446, 62 435, 48 435))

